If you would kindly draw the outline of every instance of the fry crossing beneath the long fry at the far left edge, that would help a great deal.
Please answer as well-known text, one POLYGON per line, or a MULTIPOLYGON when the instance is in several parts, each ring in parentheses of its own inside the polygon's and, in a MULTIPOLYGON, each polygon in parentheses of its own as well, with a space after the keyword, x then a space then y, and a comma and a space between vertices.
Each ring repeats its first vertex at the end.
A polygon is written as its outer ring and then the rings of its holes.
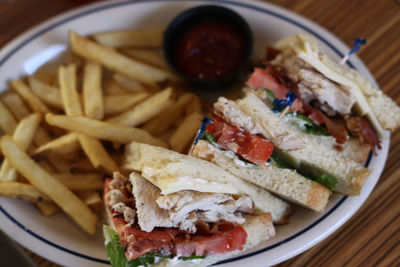
MULTIPOLYGON (((22 119, 17 128, 15 128, 13 139, 23 151, 26 151, 30 146, 41 119, 40 113, 33 113, 22 119)), ((10 165, 7 159, 4 159, 0 169, 0 181, 16 180, 17 171, 10 165)))

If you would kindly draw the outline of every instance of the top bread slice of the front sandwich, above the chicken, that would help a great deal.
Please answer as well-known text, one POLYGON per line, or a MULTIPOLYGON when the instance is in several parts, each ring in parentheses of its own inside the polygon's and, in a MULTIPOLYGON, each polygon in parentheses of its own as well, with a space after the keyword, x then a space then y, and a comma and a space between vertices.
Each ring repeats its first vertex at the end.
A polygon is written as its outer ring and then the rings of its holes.
POLYGON ((125 148, 123 168, 141 172, 143 177, 161 189, 161 194, 181 190, 247 194, 253 199, 257 213, 271 212, 277 223, 283 222, 291 211, 288 203, 264 188, 244 181, 211 162, 165 148, 133 142, 125 148), (144 172, 149 168, 156 175, 150 177, 144 172), (181 189, 182 184, 188 186, 181 189))

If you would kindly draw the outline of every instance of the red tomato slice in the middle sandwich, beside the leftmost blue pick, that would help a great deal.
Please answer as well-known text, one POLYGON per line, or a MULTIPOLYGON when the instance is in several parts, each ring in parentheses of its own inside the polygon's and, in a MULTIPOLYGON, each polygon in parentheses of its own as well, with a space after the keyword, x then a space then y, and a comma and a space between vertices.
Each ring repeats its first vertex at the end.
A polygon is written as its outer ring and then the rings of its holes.
POLYGON ((257 135, 239 130, 221 118, 216 117, 213 119, 214 122, 207 125, 206 132, 215 136, 218 145, 252 163, 264 165, 267 162, 274 150, 271 142, 257 135))

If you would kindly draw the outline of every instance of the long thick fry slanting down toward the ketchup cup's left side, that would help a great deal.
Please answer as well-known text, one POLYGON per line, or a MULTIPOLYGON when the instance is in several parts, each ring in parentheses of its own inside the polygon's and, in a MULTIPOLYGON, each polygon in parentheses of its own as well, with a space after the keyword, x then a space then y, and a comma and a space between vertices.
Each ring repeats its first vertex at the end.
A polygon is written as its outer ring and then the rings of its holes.
POLYGON ((99 62, 101 65, 138 82, 156 86, 157 82, 173 78, 170 73, 164 70, 131 59, 109 47, 81 37, 73 31, 69 32, 69 40, 72 50, 78 55, 99 62))

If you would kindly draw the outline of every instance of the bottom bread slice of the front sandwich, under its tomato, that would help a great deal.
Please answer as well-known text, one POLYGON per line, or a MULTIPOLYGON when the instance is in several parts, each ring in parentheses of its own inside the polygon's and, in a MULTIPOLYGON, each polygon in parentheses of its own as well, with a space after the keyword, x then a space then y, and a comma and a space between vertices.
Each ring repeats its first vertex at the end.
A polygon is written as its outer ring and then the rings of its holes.
MULTIPOLYGON (((248 215, 246 216, 246 222, 243 224, 243 228, 247 233, 246 244, 243 251, 250 249, 259 243, 270 239, 275 236, 275 228, 272 223, 272 217, 269 213, 264 213, 261 215, 248 215)), ((199 267, 199 266, 210 266, 219 261, 232 258, 243 251, 234 251, 221 255, 207 256, 203 260, 194 261, 179 261, 174 260, 162 260, 161 262, 155 264, 157 267, 199 267)))

